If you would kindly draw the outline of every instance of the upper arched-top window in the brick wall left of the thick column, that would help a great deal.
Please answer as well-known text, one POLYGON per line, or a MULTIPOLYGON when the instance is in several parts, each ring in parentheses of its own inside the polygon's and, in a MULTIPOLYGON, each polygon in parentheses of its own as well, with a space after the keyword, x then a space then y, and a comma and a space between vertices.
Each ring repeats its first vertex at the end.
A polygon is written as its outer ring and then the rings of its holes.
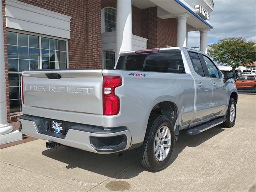
POLYGON ((116 31, 116 10, 113 8, 104 9, 105 32, 116 31))

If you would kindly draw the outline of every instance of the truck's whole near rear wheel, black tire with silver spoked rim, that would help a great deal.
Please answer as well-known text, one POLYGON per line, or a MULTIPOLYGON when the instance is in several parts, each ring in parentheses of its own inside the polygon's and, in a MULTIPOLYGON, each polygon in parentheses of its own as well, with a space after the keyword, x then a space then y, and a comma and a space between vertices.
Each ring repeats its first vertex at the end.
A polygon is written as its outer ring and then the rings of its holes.
POLYGON ((159 171, 169 165, 174 149, 174 128, 165 115, 153 115, 142 146, 135 153, 139 164, 148 170, 159 171))

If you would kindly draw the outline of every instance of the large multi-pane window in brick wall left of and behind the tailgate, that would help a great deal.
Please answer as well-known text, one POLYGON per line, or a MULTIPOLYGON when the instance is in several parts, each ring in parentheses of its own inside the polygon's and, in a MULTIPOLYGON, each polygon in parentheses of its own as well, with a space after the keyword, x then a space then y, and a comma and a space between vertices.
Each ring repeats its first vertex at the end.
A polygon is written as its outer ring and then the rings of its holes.
POLYGON ((18 114, 22 71, 66 68, 66 41, 7 31, 7 58, 10 114, 18 114))

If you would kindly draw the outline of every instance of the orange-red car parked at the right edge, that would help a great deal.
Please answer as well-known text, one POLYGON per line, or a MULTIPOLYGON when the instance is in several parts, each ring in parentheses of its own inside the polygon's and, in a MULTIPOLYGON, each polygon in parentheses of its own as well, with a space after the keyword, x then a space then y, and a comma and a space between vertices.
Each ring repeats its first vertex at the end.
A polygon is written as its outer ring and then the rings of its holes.
POLYGON ((254 90, 256 92, 256 75, 241 75, 235 80, 237 90, 254 90))

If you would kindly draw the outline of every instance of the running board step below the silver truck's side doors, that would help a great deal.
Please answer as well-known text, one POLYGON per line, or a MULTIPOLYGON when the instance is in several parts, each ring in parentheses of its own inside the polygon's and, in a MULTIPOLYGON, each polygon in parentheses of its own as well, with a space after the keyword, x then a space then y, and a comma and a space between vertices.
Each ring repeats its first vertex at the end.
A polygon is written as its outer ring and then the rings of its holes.
POLYGON ((224 118, 215 119, 215 120, 212 120, 212 121, 207 122, 205 124, 201 124, 201 125, 195 126, 192 129, 187 130, 186 134, 188 134, 188 135, 197 135, 197 134, 200 134, 201 132, 203 132, 205 130, 208 130, 208 129, 210 129, 210 128, 218 125, 218 124, 221 124, 223 122, 224 122, 224 118))

